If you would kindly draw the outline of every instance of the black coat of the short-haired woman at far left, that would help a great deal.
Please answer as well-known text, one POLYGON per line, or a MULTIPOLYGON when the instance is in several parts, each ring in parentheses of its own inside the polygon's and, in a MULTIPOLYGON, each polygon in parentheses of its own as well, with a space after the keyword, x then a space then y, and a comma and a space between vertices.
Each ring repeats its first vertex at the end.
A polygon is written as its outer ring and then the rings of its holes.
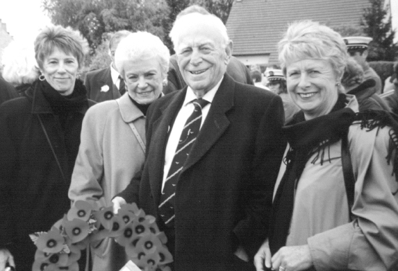
MULTIPOLYGON (((39 86, 33 83, 23 97, 0 106, 0 246, 11 250, 19 267, 33 263, 35 246, 28 234, 49 231, 70 207, 67 192, 81 123, 94 104, 85 98, 78 112, 69 114, 63 130, 39 86)), ((82 82, 76 81, 74 91, 76 87, 85 91, 82 82)))

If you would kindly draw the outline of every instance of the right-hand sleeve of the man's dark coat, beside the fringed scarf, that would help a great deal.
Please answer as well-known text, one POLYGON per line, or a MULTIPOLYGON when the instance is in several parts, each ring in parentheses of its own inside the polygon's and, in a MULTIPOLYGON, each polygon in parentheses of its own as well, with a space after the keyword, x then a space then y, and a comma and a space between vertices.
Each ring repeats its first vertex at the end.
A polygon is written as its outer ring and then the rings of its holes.
POLYGON ((251 165, 251 184, 248 188, 246 217, 238 222, 233 232, 240 245, 254 256, 267 238, 267 225, 272 209, 272 193, 279 165, 285 150, 282 134, 284 113, 279 96, 274 96, 259 123, 255 152, 251 165))

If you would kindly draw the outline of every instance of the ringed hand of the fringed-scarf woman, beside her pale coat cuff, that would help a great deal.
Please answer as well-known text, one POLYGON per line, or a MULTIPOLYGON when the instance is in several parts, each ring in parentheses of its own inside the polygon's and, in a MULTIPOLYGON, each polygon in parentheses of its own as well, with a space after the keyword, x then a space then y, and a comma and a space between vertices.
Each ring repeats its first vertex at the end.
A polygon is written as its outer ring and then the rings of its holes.
POLYGON ((292 247, 281 247, 272 256, 272 269, 279 271, 306 270, 313 265, 310 247, 308 245, 297 245, 292 247))

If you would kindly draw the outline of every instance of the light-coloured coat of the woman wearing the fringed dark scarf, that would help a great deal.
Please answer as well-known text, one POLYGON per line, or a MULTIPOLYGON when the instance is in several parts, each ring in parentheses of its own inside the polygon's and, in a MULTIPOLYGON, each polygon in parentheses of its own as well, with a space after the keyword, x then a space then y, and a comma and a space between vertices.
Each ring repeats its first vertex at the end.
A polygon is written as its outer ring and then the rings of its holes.
MULTIPOLYGON (((349 97, 348 107, 358 112, 356 98, 349 97)), ((330 162, 327 159, 321 165, 317 159, 313 164, 314 157, 308 159, 295 192, 286 245, 308 244, 316 270, 397 270, 398 195, 392 192, 397 191, 398 184, 391 174, 392 164, 385 159, 389 130, 367 132, 360 124, 349 128, 356 176, 351 211, 357 218, 352 222, 342 175, 341 141, 326 151, 330 162)))

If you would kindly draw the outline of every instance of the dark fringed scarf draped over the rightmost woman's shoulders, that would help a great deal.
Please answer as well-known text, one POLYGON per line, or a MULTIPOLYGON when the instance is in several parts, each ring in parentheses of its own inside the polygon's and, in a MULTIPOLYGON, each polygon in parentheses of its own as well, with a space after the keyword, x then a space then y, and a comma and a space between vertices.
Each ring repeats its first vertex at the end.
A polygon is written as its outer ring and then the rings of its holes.
POLYGON ((325 150, 331 144, 339 141, 342 137, 347 137, 349 126, 354 121, 361 121, 361 127, 372 130, 376 127, 390 125, 393 127, 390 133, 390 148, 388 163, 395 161, 395 176, 398 182, 398 155, 392 157, 392 150, 398 149, 398 125, 388 112, 368 111, 354 113, 346 106, 345 94, 339 94, 338 101, 329 114, 319 116, 315 119, 306 121, 304 113, 299 112, 294 119, 283 127, 285 137, 290 144, 290 150, 285 157, 287 164, 285 174, 276 191, 274 205, 272 209, 272 219, 270 225, 270 249, 271 253, 276 253, 286 243, 292 218, 295 189, 301 173, 304 171, 306 163, 315 153, 315 158, 311 163, 320 159, 322 165, 325 159, 325 150), (394 127, 395 126, 395 127, 394 127), (394 139, 395 138, 395 139, 394 139))

